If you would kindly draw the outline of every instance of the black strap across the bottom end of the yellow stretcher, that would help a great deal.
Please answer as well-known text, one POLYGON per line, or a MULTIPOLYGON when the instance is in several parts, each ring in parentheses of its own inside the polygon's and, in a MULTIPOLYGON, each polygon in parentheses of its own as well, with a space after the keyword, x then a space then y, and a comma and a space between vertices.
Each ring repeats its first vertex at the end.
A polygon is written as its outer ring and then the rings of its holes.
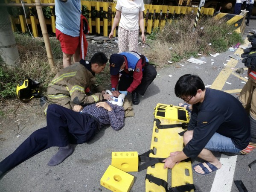
POLYGON ((163 188, 166 189, 166 192, 186 192, 191 191, 192 189, 195 190, 194 184, 180 185, 168 189, 168 183, 165 180, 154 177, 149 174, 146 175, 145 179, 148 179, 150 182, 155 183, 159 186, 163 186, 163 188))

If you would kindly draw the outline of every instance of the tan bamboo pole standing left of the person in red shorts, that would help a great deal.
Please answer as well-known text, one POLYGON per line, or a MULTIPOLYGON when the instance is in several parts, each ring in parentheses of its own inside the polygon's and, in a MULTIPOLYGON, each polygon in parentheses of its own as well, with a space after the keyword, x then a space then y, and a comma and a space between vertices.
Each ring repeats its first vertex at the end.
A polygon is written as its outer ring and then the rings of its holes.
POLYGON ((38 13, 38 19, 39 19, 40 27, 41 27, 43 38, 44 38, 44 44, 45 44, 45 48, 46 48, 46 52, 47 52, 47 58, 48 58, 50 67, 53 70, 55 67, 54 67, 54 61, 52 58, 52 48, 51 48, 51 44, 50 44, 50 40, 49 40, 47 27, 46 27, 46 23, 44 20, 44 15, 43 15, 43 10, 41 7, 40 0, 35 0, 35 8, 36 8, 36 12, 38 13))

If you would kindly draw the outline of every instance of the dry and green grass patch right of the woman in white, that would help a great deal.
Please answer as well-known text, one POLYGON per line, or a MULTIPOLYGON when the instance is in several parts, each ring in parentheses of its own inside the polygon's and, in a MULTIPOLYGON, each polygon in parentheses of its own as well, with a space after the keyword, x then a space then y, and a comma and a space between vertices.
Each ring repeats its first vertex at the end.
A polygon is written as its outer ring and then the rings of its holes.
POLYGON ((168 61, 177 62, 191 56, 196 58, 198 53, 224 52, 232 45, 244 43, 241 35, 234 32, 235 28, 227 25, 224 19, 202 17, 193 31, 194 22, 195 15, 185 15, 180 20, 167 23, 159 32, 153 31, 149 35, 152 48, 147 57, 162 67, 168 61))

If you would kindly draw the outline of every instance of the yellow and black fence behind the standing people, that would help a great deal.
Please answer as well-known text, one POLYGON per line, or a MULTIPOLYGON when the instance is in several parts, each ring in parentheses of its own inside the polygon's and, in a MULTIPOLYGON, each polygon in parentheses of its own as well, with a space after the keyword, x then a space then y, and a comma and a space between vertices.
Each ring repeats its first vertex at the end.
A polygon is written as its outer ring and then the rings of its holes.
MULTIPOLYGON (((14 17, 10 15, 12 30, 17 31, 17 26, 20 25, 21 32, 25 33, 27 31, 27 24, 31 26, 32 33, 34 37, 38 37, 38 18, 33 14, 33 7, 35 4, 34 0, 24 0, 25 4, 23 6, 29 7, 29 15, 24 14, 23 9, 20 7, 19 0, 6 0, 5 4, 1 6, 8 7, 18 7, 18 15, 14 17)), ((50 18, 46 19, 46 24, 51 25, 52 32, 55 33, 55 14, 54 14, 54 0, 41 0, 42 6, 49 6, 50 8, 50 18)), ((90 33, 95 26, 96 34, 102 34, 108 37, 108 27, 113 23, 115 16, 115 6, 116 3, 109 2, 99 2, 99 1, 87 1, 81 0, 82 7, 86 8, 87 18, 90 25, 90 33)), ((144 26, 145 32, 151 34, 152 30, 155 28, 163 28, 166 22, 172 22, 174 19, 179 19, 187 13, 196 13, 196 7, 186 7, 186 6, 162 6, 162 5, 147 5, 145 4, 144 11, 144 26)), ((214 13, 213 8, 202 8, 201 15, 212 16, 214 13)), ((110 30, 110 29, 109 29, 110 30)), ((114 35, 116 36, 116 31, 114 35)))

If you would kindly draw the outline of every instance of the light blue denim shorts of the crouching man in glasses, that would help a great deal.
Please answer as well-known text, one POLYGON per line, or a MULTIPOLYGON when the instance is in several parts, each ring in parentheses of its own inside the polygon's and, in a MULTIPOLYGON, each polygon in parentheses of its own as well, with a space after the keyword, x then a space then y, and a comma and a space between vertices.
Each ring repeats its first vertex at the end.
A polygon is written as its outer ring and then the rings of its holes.
POLYGON ((219 151, 219 152, 230 152, 238 153, 241 149, 236 148, 232 140, 229 137, 225 137, 221 134, 215 133, 209 142, 205 145, 206 149, 210 151, 219 151))

